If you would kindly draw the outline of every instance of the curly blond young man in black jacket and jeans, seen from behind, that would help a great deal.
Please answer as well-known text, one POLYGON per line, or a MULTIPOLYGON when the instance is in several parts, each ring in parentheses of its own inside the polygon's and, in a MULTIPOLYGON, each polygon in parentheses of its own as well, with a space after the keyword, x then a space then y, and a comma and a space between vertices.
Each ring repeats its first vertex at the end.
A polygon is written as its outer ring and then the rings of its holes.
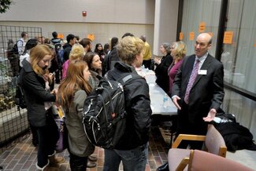
MULTIPOLYGON (((144 42, 132 36, 122 38, 117 45, 121 59, 113 70, 106 74, 109 80, 118 80, 118 75, 137 75, 135 67, 143 63, 144 42)), ((105 149, 104 171, 118 171, 122 161, 124 170, 145 170, 148 155, 148 140, 151 125, 149 86, 145 78, 128 80, 124 85, 124 109, 126 128, 124 135, 113 149, 105 149)))

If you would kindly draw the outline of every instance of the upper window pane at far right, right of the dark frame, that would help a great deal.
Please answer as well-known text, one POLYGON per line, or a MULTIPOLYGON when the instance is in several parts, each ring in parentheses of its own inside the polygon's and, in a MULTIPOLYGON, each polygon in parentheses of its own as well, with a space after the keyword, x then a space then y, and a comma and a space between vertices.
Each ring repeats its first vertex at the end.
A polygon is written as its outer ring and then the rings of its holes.
POLYGON ((223 45, 224 81, 256 93, 256 1, 232 0, 228 3, 225 31, 231 31, 232 42, 223 45))

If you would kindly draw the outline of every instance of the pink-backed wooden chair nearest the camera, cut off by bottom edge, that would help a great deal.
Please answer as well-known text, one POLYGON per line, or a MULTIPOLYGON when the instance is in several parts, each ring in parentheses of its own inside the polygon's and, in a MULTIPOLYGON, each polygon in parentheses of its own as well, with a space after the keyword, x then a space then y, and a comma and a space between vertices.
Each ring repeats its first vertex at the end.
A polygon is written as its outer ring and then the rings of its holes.
POLYGON ((188 165, 188 171, 251 171, 253 169, 243 166, 238 162, 234 162, 228 158, 223 158, 218 155, 211 154, 206 151, 191 150, 189 158, 184 158, 177 171, 184 170, 188 165))

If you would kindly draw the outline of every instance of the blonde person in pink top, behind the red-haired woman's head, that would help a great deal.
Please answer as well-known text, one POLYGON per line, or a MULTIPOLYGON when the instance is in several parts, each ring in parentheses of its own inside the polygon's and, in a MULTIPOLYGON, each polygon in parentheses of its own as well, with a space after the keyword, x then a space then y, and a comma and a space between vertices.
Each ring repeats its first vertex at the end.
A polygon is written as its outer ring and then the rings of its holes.
POLYGON ((71 60, 82 60, 83 56, 85 55, 83 45, 76 43, 72 45, 71 52, 69 54, 69 60, 66 60, 65 63, 62 65, 62 80, 66 77, 67 70, 69 67, 69 62, 71 60))

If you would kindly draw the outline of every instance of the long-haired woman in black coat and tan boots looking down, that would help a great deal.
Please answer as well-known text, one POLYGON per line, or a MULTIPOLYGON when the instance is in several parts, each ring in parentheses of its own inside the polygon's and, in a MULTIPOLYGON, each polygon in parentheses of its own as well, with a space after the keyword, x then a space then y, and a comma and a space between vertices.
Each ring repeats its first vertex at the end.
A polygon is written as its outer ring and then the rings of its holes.
POLYGON ((22 61, 19 84, 24 90, 28 110, 28 121, 39 136, 36 168, 39 170, 58 170, 58 164, 65 162, 64 158, 55 157, 55 145, 58 141, 58 126, 46 102, 56 100, 57 90, 48 92, 46 82, 52 79, 48 67, 52 53, 47 45, 36 45, 30 51, 30 56, 22 61))

